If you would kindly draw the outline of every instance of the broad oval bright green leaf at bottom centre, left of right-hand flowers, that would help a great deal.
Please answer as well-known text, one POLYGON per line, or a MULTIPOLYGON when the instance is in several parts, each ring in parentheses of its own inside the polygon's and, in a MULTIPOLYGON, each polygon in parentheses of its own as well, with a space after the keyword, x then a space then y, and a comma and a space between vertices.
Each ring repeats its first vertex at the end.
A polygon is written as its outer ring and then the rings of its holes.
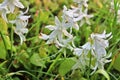
POLYGON ((70 58, 65 59, 59 67, 60 75, 64 76, 66 73, 68 73, 74 64, 75 64, 75 61, 73 61, 72 59, 70 58))

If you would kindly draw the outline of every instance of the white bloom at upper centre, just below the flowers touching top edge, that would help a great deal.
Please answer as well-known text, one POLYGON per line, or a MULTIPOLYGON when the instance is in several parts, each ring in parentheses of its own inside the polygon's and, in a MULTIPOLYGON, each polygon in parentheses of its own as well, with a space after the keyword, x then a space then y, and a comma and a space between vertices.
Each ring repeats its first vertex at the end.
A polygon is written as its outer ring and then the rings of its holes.
POLYGON ((69 22, 76 24, 76 22, 80 21, 80 26, 84 23, 90 25, 89 19, 93 17, 93 15, 88 14, 88 9, 86 8, 83 12, 82 8, 73 7, 72 9, 67 9, 64 6, 63 10, 64 16, 67 17, 69 22))

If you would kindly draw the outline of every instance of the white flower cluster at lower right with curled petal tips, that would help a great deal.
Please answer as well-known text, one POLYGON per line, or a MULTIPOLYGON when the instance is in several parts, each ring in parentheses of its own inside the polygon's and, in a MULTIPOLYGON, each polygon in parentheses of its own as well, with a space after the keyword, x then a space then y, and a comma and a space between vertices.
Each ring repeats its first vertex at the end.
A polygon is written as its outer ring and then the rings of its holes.
MULTIPOLYGON (((90 36, 90 40, 86 44, 84 44, 80 48, 74 48, 74 54, 80 58, 83 58, 82 55, 85 55, 84 59, 89 60, 90 57, 88 55, 90 53, 92 56, 91 62, 95 63, 91 65, 91 68, 94 70, 93 73, 97 70, 97 68, 104 69, 105 63, 111 61, 108 60, 108 58, 111 57, 111 53, 109 55, 107 55, 106 53, 106 48, 109 46, 108 40, 111 38, 111 33, 106 34, 106 31, 104 31, 102 34, 92 33, 90 36)), ((86 61, 86 63, 83 63, 82 65, 88 66, 88 61, 86 61)))

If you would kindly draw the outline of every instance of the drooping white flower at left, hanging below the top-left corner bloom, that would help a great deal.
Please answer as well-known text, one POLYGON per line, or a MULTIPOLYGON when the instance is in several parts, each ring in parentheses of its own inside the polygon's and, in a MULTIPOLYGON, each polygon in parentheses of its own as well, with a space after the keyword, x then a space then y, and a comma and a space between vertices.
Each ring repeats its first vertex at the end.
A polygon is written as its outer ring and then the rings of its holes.
POLYGON ((21 42, 20 42, 21 44, 23 43, 23 41, 26 40, 24 33, 28 32, 28 29, 26 28, 26 26, 28 24, 28 18, 30 18, 30 16, 25 16, 24 15, 25 13, 20 12, 20 14, 16 18, 16 20, 10 21, 10 23, 13 23, 16 25, 15 33, 17 35, 19 35, 20 40, 21 40, 21 42))

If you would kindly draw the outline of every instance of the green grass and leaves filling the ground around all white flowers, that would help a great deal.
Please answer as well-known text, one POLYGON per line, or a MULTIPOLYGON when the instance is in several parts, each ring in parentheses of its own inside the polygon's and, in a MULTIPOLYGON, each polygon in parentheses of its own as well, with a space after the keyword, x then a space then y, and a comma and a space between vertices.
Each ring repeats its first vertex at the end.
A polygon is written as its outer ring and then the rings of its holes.
MULTIPOLYGON (((0 0, 0 3, 2 1, 0 0)), ((0 80, 120 79, 118 77, 120 75, 120 23, 116 22, 118 16, 116 13, 120 8, 117 5, 119 0, 115 0, 115 11, 111 13, 109 13, 110 0, 89 0, 88 13, 94 14, 94 18, 90 20, 91 25, 84 24, 78 31, 72 29, 75 35, 74 43, 77 47, 86 43, 92 32, 102 33, 103 30, 107 33, 112 32, 113 38, 110 39, 110 47, 107 48, 108 54, 112 52, 112 62, 104 65, 105 70, 100 69, 93 75, 88 73, 92 71, 89 67, 85 67, 88 71, 85 70, 84 73, 80 69, 72 70, 76 63, 74 59, 78 57, 74 56, 71 50, 58 49, 55 44, 48 45, 39 38, 41 32, 50 33, 45 26, 54 25, 55 16, 61 17, 64 5, 68 8, 76 6, 73 0, 20 1, 25 7, 29 6, 29 11, 26 13, 31 15, 27 26, 29 31, 25 35, 26 41, 19 45, 18 36, 11 31, 11 29, 14 30, 15 25, 6 23, 0 16, 0 80)), ((15 13, 7 14, 8 19, 14 20, 19 10, 25 11, 26 8, 16 8, 15 13)))

